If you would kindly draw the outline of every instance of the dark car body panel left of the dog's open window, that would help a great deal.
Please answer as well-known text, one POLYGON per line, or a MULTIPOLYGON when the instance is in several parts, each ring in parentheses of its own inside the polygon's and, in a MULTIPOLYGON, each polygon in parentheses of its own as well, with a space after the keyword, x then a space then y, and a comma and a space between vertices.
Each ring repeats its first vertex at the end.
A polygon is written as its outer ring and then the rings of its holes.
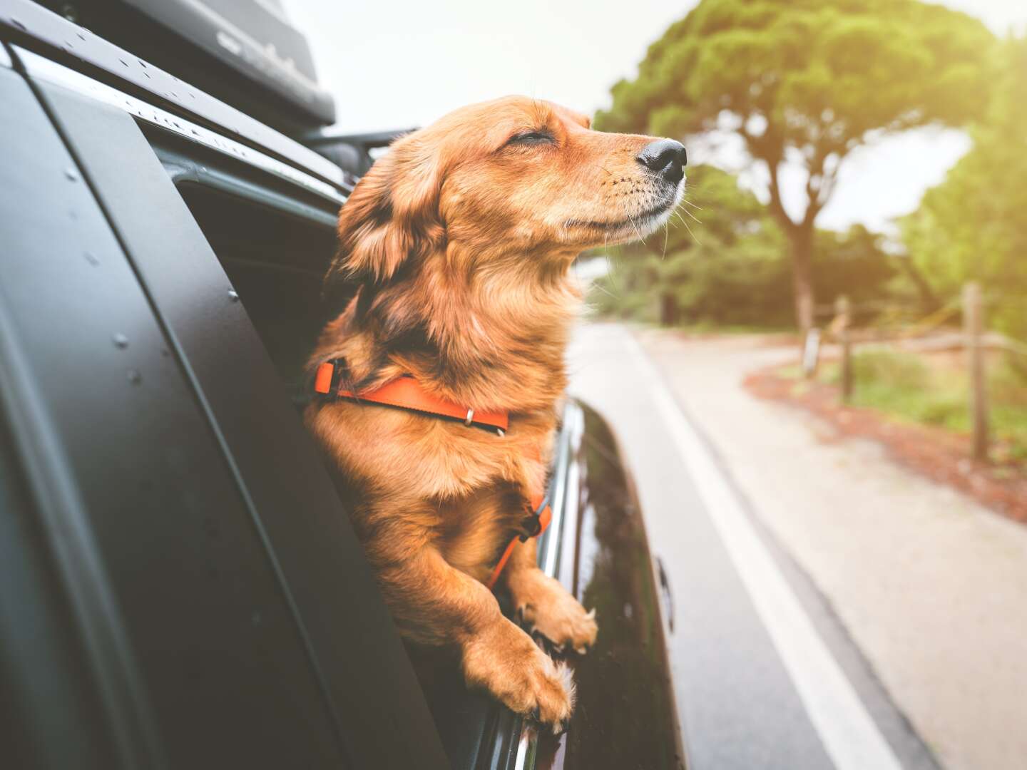
POLYGON ((66 605, 41 641, 82 683, 39 691, 45 660, 3 626, 30 754, 68 766, 48 736, 84 711, 82 766, 445 767, 327 471, 138 117, 10 50, 4 426, 66 605))

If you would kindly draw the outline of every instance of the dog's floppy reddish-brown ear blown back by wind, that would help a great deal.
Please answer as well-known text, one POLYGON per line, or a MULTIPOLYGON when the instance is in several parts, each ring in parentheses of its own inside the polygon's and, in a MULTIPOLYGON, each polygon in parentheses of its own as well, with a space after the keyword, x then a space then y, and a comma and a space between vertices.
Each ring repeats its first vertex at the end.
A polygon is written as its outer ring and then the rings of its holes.
POLYGON ((326 297, 340 281, 382 284, 404 263, 442 242, 438 154, 410 134, 392 145, 359 181, 339 213, 339 251, 325 278, 326 297))

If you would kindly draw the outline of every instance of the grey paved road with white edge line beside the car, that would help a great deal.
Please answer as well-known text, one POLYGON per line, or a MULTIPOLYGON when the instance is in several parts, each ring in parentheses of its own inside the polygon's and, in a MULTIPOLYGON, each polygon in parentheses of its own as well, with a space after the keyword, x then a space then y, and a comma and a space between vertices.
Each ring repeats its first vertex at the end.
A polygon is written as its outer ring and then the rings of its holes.
POLYGON ((691 770, 930 770, 824 599, 745 498, 634 337, 584 325, 571 390, 619 435, 670 575, 691 770))

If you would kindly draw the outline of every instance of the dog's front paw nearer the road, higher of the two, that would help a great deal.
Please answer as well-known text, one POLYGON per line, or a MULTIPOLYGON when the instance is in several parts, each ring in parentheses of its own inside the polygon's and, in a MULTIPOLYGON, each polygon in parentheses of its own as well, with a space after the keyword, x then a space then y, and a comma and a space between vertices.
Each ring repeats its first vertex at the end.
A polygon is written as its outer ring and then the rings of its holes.
POLYGON ((558 580, 541 570, 528 570, 509 581, 518 619, 531 633, 543 637, 557 650, 583 655, 596 644, 596 611, 585 612, 558 580))

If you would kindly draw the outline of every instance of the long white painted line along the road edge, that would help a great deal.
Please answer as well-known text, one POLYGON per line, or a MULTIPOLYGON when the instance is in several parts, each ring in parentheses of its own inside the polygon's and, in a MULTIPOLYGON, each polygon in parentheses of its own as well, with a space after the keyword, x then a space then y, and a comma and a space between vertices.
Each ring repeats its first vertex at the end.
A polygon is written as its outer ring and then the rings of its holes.
POLYGON ((901 770, 888 742, 762 543, 737 494, 631 335, 629 347, 785 668, 837 770, 901 770))

